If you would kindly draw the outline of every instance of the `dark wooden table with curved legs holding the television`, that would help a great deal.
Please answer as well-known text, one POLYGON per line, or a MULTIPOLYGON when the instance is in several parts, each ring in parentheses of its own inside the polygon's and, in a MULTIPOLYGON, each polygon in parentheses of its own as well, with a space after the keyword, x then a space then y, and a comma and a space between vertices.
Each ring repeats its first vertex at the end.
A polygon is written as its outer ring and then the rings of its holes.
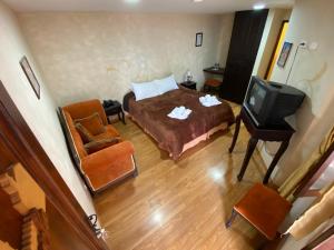
POLYGON ((240 113, 236 117, 235 132, 233 136, 232 144, 228 149, 230 153, 233 152, 233 149, 237 141, 242 121, 244 122, 247 131, 250 133, 250 139, 248 141, 247 152, 245 154, 242 169, 237 176, 238 181, 242 181, 244 177, 249 159, 254 152, 254 149, 258 140, 282 142, 279 149, 277 150, 275 157, 273 158, 273 161, 263 179, 263 183, 266 184, 268 183, 269 177, 273 170, 275 169, 276 163, 278 162, 279 158, 287 149, 289 139, 295 132, 295 130, 285 121, 284 123, 277 126, 275 124, 275 126, 267 126, 267 127, 257 127, 253 121, 252 117, 248 114, 247 110, 245 108, 242 108, 240 113))

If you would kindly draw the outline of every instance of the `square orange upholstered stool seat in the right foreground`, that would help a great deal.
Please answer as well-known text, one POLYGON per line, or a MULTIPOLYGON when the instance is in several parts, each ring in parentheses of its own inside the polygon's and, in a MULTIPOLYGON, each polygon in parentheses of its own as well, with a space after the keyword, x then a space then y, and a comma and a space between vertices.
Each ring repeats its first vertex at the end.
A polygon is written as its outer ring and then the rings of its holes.
POLYGON ((256 183, 234 206, 234 209, 267 239, 272 240, 276 237, 277 229, 291 210, 291 203, 275 190, 256 183))

